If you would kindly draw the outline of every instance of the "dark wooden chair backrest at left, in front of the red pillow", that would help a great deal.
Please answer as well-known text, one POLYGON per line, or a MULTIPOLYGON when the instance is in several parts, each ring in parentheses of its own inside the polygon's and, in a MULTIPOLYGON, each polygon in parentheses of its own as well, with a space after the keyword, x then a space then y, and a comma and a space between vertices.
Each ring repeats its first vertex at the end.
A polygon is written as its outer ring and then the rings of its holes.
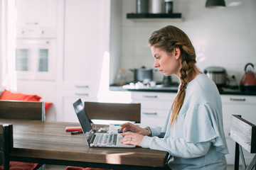
POLYGON ((45 120, 44 102, 0 101, 0 118, 45 120))

